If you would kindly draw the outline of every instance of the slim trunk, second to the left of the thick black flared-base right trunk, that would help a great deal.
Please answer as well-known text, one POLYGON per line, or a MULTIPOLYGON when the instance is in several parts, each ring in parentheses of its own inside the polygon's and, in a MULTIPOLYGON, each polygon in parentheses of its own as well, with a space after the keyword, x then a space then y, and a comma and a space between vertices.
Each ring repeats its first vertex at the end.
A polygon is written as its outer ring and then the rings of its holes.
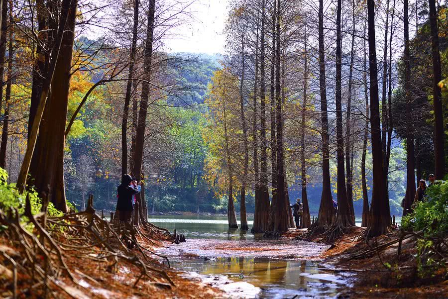
POLYGON ((353 86, 353 59, 354 59, 354 35, 355 35, 355 3, 353 0, 352 6, 352 34, 351 34, 351 50, 350 50, 350 70, 348 73, 348 97, 347 97, 347 123, 346 123, 346 143, 345 143, 345 166, 347 169, 347 200, 348 207, 351 214, 351 220, 354 223, 354 208, 353 208, 353 186, 352 181, 353 178, 351 176, 351 166, 350 166, 350 118, 351 118, 351 94, 352 94, 352 86, 353 86))

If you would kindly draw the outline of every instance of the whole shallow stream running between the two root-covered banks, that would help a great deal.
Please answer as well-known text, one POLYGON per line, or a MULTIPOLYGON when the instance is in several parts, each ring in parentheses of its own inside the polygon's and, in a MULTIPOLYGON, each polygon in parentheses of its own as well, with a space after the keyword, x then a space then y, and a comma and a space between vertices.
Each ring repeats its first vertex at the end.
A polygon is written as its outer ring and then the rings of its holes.
MULTIPOLYGON (((335 273, 318 260, 328 245, 229 230, 224 216, 160 215, 149 221, 187 239, 159 248, 171 267, 221 289, 228 298, 337 298, 351 286, 353 274, 335 273)), ((250 227, 252 219, 248 222, 250 227)))

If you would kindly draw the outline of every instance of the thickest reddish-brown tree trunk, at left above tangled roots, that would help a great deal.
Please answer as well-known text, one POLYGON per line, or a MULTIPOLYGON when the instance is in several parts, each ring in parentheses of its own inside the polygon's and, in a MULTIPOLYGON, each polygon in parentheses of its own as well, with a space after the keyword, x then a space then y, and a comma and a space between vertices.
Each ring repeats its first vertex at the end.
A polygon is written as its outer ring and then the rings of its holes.
MULTIPOLYGON (((72 0, 68 10, 67 22, 64 26, 59 57, 51 81, 51 94, 49 94, 48 100, 44 101, 45 110, 40 122, 39 139, 35 145, 36 152, 32 156, 32 167, 30 169, 36 191, 42 194, 46 192, 49 186, 50 195, 48 199, 63 212, 67 212, 63 169, 64 145, 76 8, 77 0, 72 0)), ((40 101, 42 101, 42 98, 40 101)))

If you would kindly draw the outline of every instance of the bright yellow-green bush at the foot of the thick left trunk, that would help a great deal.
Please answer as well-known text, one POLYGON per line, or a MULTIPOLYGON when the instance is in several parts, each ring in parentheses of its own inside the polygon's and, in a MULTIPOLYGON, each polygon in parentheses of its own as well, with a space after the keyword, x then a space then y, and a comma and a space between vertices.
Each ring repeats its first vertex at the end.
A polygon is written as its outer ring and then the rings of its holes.
MULTIPOLYGON (((25 212, 25 202, 26 197, 29 196, 31 203, 31 212, 33 215, 40 212, 42 207, 42 201, 38 197, 37 192, 34 190, 25 191, 20 194, 15 188, 15 184, 7 183, 8 174, 7 172, 0 168, 0 208, 6 212, 9 208, 16 208, 20 215, 25 212)), ((53 203, 48 204, 48 215, 49 216, 61 216, 62 212, 56 209, 53 203)), ((22 216, 23 222, 28 222, 27 218, 22 216)))

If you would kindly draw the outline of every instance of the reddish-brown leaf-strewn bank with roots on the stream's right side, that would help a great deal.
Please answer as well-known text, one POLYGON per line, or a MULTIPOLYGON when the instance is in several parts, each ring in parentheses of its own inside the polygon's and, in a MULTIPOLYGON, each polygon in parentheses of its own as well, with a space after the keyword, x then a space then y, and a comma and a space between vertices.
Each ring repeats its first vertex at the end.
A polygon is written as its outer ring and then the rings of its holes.
MULTIPOLYGON (((293 230, 286 236, 297 238, 305 231, 293 230)), ((428 275, 419 271, 416 236, 405 236, 399 249, 399 230, 368 243, 362 233, 363 228, 350 229, 319 256, 334 273, 355 273, 353 287, 342 290, 340 298, 448 298, 446 267, 428 275)))

